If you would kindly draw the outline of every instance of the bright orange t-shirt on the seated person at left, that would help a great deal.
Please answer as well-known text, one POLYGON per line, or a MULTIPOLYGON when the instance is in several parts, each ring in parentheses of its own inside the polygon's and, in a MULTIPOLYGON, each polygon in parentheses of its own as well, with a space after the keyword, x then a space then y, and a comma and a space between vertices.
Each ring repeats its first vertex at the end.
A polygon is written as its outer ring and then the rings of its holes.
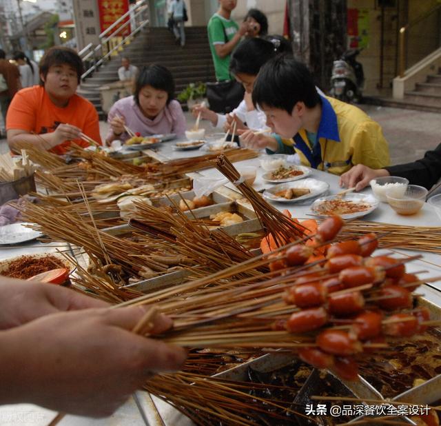
MULTIPOLYGON (((25 130, 44 134, 53 132, 60 123, 75 125, 81 132, 101 143, 98 114, 94 105, 87 99, 74 94, 64 108, 59 108, 50 101, 43 87, 34 85, 19 90, 12 98, 6 116, 6 130, 25 130)), ((71 141, 64 141, 54 146, 50 152, 64 154, 71 141)), ((77 145, 88 147, 83 139, 75 139, 77 145)))

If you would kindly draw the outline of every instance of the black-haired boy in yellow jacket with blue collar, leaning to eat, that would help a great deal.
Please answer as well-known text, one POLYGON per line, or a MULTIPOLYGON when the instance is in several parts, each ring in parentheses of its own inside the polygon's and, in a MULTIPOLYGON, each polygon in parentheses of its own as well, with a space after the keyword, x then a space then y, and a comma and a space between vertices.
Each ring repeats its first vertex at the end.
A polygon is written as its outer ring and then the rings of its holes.
POLYGON ((240 136, 243 145, 297 153, 302 164, 333 174, 356 164, 389 165, 380 125, 359 108, 318 94, 309 70, 292 57, 276 57, 260 69, 252 99, 271 130, 288 140, 247 131, 240 136))

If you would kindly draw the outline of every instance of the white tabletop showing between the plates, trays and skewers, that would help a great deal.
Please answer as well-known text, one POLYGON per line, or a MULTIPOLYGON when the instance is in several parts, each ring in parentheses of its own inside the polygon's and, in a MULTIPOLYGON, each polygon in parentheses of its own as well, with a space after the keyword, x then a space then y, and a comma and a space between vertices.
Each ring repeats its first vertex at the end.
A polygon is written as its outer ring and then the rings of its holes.
MULTIPOLYGON (((202 154, 206 154, 207 152, 202 152, 200 150, 189 150, 189 151, 178 151, 174 150, 174 143, 176 141, 165 142, 161 144, 161 148, 159 148, 156 152, 151 152, 156 158, 161 159, 161 161, 167 161, 169 159, 178 159, 178 158, 188 158, 193 156, 201 156, 202 154)), ((148 151, 147 151, 148 152, 148 151)), ((264 173, 263 169, 260 167, 260 163, 258 159, 251 159, 246 161, 240 161, 238 163, 234 163, 236 166, 245 166, 245 165, 254 165, 257 167, 257 176, 256 181, 254 182, 253 187, 256 190, 262 190, 263 188, 271 187, 271 183, 267 183, 262 179, 262 174, 264 173)), ((201 170, 200 172, 190 174, 193 179, 197 179, 198 176, 209 176, 212 178, 222 178, 223 175, 218 172, 216 169, 208 169, 201 170)), ((329 183, 329 194, 336 194, 341 190, 338 186, 338 176, 334 174, 329 174, 326 172, 321 172, 320 170, 313 170, 312 174, 308 177, 319 179, 321 181, 325 181, 329 183)), ((237 190, 234 185, 229 183, 227 186, 231 187, 233 190, 237 190)), ((366 188, 363 190, 364 193, 371 192, 370 189, 366 188)), ((272 202, 271 202, 272 203, 272 202)), ((289 212, 291 212, 293 217, 298 219, 307 219, 308 214, 311 213, 309 210, 309 203, 304 204, 289 204, 289 203, 273 203, 275 207, 279 210, 283 210, 287 208, 289 212)), ((394 225, 413 225, 413 226, 433 226, 433 227, 441 227, 441 219, 435 212, 433 206, 424 204, 422 210, 416 215, 413 216, 400 216, 396 214, 389 205, 386 203, 380 203, 378 208, 372 212, 371 214, 365 216, 366 221, 378 221, 382 223, 393 223, 394 225)), ((429 237, 429 236, 428 236, 429 237)), ((30 249, 20 249, 20 247, 16 247, 8 253, 7 257, 18 256, 19 254, 31 254, 34 252, 38 252, 38 250, 47 250, 47 245, 41 245, 40 243, 36 243, 34 247, 32 247, 32 251, 28 251, 30 249), (35 251, 34 251, 35 250, 35 251)), ((54 249, 52 249, 54 250, 54 249)), ((7 252, 7 250, 5 250, 7 252)), ((5 252, 0 251, 0 258, 6 258, 5 252)), ((388 252, 384 250, 384 252, 388 252)), ((421 254, 421 252, 414 252, 411 250, 396 250, 398 253, 413 255, 413 254, 421 254)), ((438 254, 431 253, 422 253, 423 257, 421 260, 413 261, 407 265, 407 270, 409 272, 414 272, 417 270, 427 270, 424 274, 420 276, 422 278, 431 278, 433 276, 441 276, 441 256, 438 254)), ((441 305, 441 282, 433 283, 429 286, 422 286, 418 289, 419 293, 424 294, 424 296, 433 303, 437 305, 441 305)), ((141 393, 143 395, 143 393, 141 393)), ((187 426, 192 425, 192 423, 185 417, 181 416, 180 413, 176 412, 175 409, 163 403, 162 400, 158 398, 152 397, 154 400, 154 404, 158 408, 158 411, 161 413, 161 417, 165 425, 179 425, 179 426, 187 426)), ((144 393, 144 398, 142 398, 141 406, 143 407, 143 412, 147 418, 147 422, 150 425, 161 425, 161 422, 155 416, 155 410, 152 409, 151 402, 148 396, 144 393)), ((43 426, 48 425, 50 420, 56 416, 57 413, 51 412, 48 409, 43 409, 41 407, 37 407, 35 405, 28 404, 19 404, 19 405, 4 405, 0 407, 0 425, 9 426, 9 425, 21 425, 21 426, 43 426)), ((104 418, 101 420, 96 420, 92 418, 85 418, 80 416, 65 416, 60 422, 60 426, 86 426, 86 425, 124 425, 124 426, 141 426, 145 425, 145 421, 140 416, 140 412, 136 404, 134 403, 134 399, 130 398, 130 400, 125 403, 119 410, 109 418, 104 418)))

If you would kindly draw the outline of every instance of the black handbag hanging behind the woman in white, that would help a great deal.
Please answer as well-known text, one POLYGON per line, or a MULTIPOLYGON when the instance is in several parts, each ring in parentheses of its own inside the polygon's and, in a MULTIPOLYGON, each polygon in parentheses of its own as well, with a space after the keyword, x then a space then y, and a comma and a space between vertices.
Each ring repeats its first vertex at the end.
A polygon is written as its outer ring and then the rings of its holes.
POLYGON ((219 114, 228 114, 243 100, 245 89, 236 80, 207 83, 209 109, 219 114))

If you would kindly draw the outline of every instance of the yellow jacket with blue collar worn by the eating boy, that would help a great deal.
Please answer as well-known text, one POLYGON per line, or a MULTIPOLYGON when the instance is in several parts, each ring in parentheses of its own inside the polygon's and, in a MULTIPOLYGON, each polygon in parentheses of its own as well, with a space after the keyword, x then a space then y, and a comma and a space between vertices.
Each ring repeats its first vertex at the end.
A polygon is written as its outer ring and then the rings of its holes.
POLYGON ((373 169, 389 165, 389 147, 381 126, 354 105, 322 97, 322 118, 314 146, 300 129, 293 139, 278 140, 276 152, 300 156, 303 165, 333 174, 347 172, 353 165, 373 169))

